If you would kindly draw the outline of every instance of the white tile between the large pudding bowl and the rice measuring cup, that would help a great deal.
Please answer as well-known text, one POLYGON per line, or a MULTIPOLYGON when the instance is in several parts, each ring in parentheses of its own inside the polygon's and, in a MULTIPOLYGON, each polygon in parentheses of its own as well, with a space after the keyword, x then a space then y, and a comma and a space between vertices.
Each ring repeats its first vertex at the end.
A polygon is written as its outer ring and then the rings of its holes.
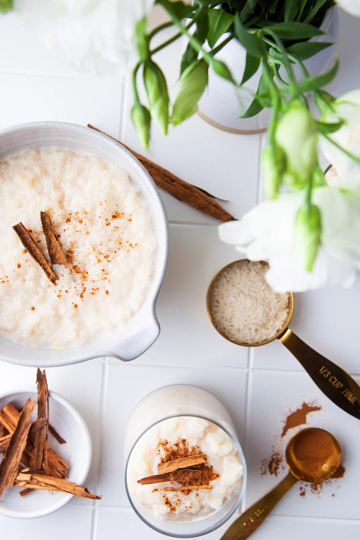
POLYGON ((206 308, 214 275, 236 258, 216 227, 170 226, 169 266, 157 304, 161 333, 135 363, 247 367, 249 349, 216 332, 206 308))

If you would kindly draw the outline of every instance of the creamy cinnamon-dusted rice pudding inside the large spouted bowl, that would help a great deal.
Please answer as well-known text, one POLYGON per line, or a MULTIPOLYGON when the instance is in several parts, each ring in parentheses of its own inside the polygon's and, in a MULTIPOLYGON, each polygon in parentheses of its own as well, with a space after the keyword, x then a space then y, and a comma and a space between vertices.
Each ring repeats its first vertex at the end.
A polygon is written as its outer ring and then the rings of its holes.
POLYGON ((0 335, 30 347, 87 345, 130 321, 153 279, 157 238, 140 189, 117 165, 49 146, 0 160, 0 335), (57 280, 26 252, 22 222, 49 260, 49 212, 67 266, 57 280))

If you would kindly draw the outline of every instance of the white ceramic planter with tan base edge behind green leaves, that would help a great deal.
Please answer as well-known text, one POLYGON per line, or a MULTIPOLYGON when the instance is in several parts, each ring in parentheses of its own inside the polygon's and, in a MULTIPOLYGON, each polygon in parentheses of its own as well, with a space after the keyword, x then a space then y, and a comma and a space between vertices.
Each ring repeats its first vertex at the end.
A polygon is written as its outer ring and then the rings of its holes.
MULTIPOLYGON (((327 34, 317 36, 311 39, 312 41, 336 42, 339 31, 339 16, 336 6, 325 12, 320 28, 324 32, 327 32, 327 34)), ((317 53, 317 55, 305 60, 304 64, 310 75, 320 75, 320 73, 323 73, 327 69, 334 53, 334 48, 335 45, 328 47, 317 53)), ((237 82, 241 81, 245 68, 246 50, 237 39, 232 39, 232 41, 225 45, 219 51, 218 55, 216 55, 216 58, 223 60, 227 64, 237 82)), ((301 78, 301 73, 297 66, 294 71, 296 77, 301 78)), ((252 102, 259 84, 260 75, 261 69, 240 90, 236 90, 232 84, 216 76, 210 69, 208 87, 199 101, 199 115, 210 124, 225 131, 257 133, 265 130, 270 118, 270 109, 263 109, 253 118, 236 118, 243 114, 252 102)))

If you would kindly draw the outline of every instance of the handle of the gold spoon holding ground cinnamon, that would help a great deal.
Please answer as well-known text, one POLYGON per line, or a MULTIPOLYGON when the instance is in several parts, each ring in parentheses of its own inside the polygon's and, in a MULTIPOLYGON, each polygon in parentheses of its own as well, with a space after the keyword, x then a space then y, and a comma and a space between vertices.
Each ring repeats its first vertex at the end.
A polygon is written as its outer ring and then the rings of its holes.
POLYGON ((298 481, 293 474, 289 472, 288 476, 283 478, 280 484, 264 495, 259 501, 253 504, 241 514, 228 528, 221 540, 245 540, 248 538, 264 521, 264 519, 273 510, 281 497, 298 481))

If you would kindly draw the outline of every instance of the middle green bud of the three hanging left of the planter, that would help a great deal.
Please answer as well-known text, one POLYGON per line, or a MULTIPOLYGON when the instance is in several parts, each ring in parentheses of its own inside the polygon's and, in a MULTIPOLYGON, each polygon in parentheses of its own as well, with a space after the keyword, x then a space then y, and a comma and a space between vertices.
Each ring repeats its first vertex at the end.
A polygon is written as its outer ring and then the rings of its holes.
POLYGON ((167 135, 169 122, 169 96, 165 77, 157 64, 146 62, 144 65, 144 84, 152 118, 167 135))

